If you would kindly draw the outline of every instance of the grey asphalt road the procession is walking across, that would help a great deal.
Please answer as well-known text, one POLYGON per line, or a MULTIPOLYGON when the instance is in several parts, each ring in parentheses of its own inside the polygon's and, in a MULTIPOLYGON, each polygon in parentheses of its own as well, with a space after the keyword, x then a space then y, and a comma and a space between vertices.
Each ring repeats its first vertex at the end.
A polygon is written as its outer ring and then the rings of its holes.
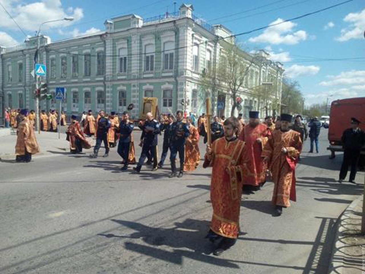
POLYGON ((169 179, 169 161, 120 172, 115 148, 106 159, 54 149, 29 164, 2 162, 0 273, 327 273, 334 224, 363 186, 336 182, 342 156, 328 159, 326 139, 322 130, 319 154, 305 143, 297 202, 281 217, 271 182, 243 195, 242 235, 219 257, 204 239, 211 170, 202 164, 169 179))

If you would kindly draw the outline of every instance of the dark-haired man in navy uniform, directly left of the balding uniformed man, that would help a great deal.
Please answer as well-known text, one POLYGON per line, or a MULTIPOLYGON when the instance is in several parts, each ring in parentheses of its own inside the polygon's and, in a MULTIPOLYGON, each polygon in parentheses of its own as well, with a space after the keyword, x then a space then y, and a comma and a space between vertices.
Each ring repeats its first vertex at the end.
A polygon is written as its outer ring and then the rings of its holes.
POLYGON ((129 121, 128 111, 123 112, 123 120, 119 124, 119 143, 118 143, 118 154, 122 157, 124 165, 121 170, 128 169, 128 159, 129 159, 129 147, 131 144, 131 133, 133 132, 134 125, 129 121))

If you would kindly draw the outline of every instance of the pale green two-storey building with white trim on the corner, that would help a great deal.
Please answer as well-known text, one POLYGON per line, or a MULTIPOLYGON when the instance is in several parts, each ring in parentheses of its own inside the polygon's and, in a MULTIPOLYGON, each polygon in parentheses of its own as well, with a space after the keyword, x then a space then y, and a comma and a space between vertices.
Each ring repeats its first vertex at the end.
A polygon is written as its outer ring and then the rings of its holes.
MULTIPOLYGON (((200 76, 218 62, 221 38, 232 35, 227 28, 206 24, 187 4, 173 14, 145 20, 134 14, 120 16, 104 26, 99 33, 55 43, 41 35, 13 48, 0 47, 1 106, 35 109, 33 68, 39 39, 38 62, 47 66, 42 81, 53 95, 56 87, 65 87, 62 109, 67 114, 89 109, 122 112, 133 103, 131 116, 138 118, 143 97, 158 98, 160 113, 205 112, 200 76)), ((280 98, 282 77, 280 64, 262 54, 240 94, 245 116, 247 110, 260 109, 248 87, 276 81, 280 98)), ((218 91, 212 99, 220 103, 215 113, 230 116, 227 91, 218 91)), ((40 109, 58 109, 57 102, 41 100, 40 109)))

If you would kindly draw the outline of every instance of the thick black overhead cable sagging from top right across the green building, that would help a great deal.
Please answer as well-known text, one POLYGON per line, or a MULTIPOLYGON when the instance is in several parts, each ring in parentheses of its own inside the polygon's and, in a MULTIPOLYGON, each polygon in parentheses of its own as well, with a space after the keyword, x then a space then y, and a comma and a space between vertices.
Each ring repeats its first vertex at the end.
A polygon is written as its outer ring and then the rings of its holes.
MULTIPOLYGON (((306 0, 308 1, 308 0, 306 0)), ((238 36, 242 36, 242 35, 246 35, 246 34, 251 34, 251 33, 254 33, 256 31, 260 31, 260 30, 265 30, 266 28, 270 28, 270 27, 274 27, 274 26, 278 26, 280 24, 284 24, 284 23, 287 23, 289 21, 295 21, 295 20, 299 20, 301 18, 305 18, 307 16, 311 16, 311 15, 314 15, 314 14, 318 14, 320 12, 323 12, 323 11, 327 11, 329 9, 333 9, 335 7, 339 7, 341 5, 344 5, 344 4, 347 4, 347 3, 350 3, 354 0, 347 0, 347 1, 343 1, 341 3, 338 3, 338 4, 335 4, 335 5, 331 5, 331 6, 328 6, 326 8, 322 8, 322 9, 318 9, 316 11, 313 11, 313 12, 308 12, 306 14, 303 14, 303 15, 299 15, 299 16, 296 16, 296 17, 293 17, 293 18, 290 18, 290 19, 286 19, 286 20, 283 20, 281 22, 278 22, 278 23, 274 23, 274 24, 269 24, 269 25, 266 25, 266 26, 263 26, 263 27, 258 27, 258 28, 254 28, 252 30, 249 30, 249 31, 244 31, 244 32, 241 32, 241 33, 238 33, 238 34, 233 34, 233 35, 228 35, 227 37, 218 37, 216 39, 216 41, 218 42, 219 40, 225 40, 225 39, 228 39, 228 38, 235 38, 235 37, 238 37, 238 36)), ((179 49, 185 49, 185 48, 188 48, 188 47, 193 47, 195 45, 203 45, 207 42, 214 42, 215 39, 208 39, 207 41, 204 41, 204 42, 201 42, 201 43, 196 43, 194 45, 187 45, 187 46, 181 46, 181 47, 175 47, 173 49, 170 49, 170 50, 160 50, 160 51, 155 51, 155 52, 150 52, 149 54, 154 54, 154 53, 164 53, 164 52, 172 52, 174 50, 179 50, 179 49)), ((64 54, 70 54, 70 55, 77 55, 77 56, 85 56, 85 54, 80 54, 80 53, 70 53, 70 52, 64 52, 64 51, 61 51, 61 50, 55 50, 55 49, 50 49, 50 51, 53 51, 53 52, 58 52, 58 53, 64 53, 64 54)), ((145 53, 133 53, 133 54, 128 54, 127 56, 123 56, 123 57, 131 57, 131 56, 143 56, 143 55, 146 55, 145 53)), ((92 56, 92 57, 97 57, 97 55, 93 54, 88 54, 88 56, 92 56)), ((106 54, 103 54, 103 57, 120 57, 119 54, 112 54, 112 55, 106 55, 106 54)))

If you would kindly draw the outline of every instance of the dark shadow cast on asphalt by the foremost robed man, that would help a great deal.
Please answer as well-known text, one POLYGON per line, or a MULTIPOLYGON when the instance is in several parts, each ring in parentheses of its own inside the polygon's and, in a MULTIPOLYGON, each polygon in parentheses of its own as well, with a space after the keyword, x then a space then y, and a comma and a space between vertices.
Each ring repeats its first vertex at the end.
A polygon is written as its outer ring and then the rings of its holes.
POLYGON ((212 265, 239 268, 236 263, 230 260, 209 256, 212 253, 213 245, 204 239, 209 227, 208 221, 187 219, 182 223, 175 222, 172 228, 154 228, 138 222, 116 219, 111 219, 111 221, 136 231, 128 236, 114 235, 113 237, 142 239, 146 243, 143 245, 127 241, 124 243, 127 250, 177 265, 182 265, 183 258, 187 257, 212 265), (169 246, 173 248, 173 251, 162 250, 158 248, 160 246, 169 246), (189 250, 180 250, 179 248, 188 248, 189 250))

